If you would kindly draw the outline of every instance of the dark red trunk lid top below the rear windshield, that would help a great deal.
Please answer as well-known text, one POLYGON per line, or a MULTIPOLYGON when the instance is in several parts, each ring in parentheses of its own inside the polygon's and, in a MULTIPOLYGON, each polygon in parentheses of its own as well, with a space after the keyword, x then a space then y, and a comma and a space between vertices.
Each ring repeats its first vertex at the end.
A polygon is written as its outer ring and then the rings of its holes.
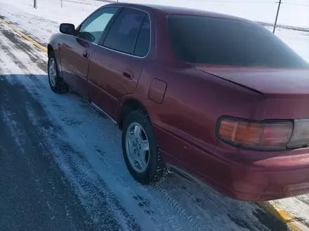
POLYGON ((265 69, 195 65, 195 68, 263 94, 308 94, 309 69, 265 69))

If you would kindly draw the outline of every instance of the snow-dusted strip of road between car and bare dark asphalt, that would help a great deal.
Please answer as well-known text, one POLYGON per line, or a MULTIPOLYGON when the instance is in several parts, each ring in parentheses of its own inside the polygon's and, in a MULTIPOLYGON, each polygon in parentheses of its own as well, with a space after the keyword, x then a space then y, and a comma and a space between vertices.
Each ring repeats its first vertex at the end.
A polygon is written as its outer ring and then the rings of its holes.
MULTIPOLYGON (((121 230, 287 230, 255 204, 230 200, 176 174, 161 185, 140 186, 126 170, 114 124, 79 97, 51 92, 46 55, 4 25, 0 45, 1 80, 14 85, 14 92, 25 89, 41 105, 43 111, 32 101, 21 103, 22 115, 98 230, 105 223, 121 230)), ((22 124, 22 117, 11 116, 14 110, 8 108, 4 117, 22 124)))

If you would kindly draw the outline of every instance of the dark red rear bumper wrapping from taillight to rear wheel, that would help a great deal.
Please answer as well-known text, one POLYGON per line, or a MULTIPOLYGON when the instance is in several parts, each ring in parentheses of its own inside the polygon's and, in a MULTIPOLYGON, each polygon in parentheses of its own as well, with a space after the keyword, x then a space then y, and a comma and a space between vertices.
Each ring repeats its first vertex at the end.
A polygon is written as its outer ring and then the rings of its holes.
MULTIPOLYGON (((167 139, 166 132, 157 132, 167 139)), ((207 153, 178 137, 168 136, 169 144, 185 159, 176 160, 161 150, 164 160, 223 195, 244 201, 265 201, 309 193, 309 148, 258 152, 239 150, 218 141, 213 153, 207 153), (178 147, 185 149, 181 151, 178 147)))

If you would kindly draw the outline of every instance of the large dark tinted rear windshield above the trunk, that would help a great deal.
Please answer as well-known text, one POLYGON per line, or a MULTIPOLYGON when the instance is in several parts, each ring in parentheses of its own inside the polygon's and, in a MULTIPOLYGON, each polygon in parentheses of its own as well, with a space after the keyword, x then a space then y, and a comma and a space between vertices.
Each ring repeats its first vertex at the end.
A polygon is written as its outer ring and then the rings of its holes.
POLYGON ((178 59, 195 64, 308 68, 309 64, 254 22, 169 15, 169 36, 178 59))

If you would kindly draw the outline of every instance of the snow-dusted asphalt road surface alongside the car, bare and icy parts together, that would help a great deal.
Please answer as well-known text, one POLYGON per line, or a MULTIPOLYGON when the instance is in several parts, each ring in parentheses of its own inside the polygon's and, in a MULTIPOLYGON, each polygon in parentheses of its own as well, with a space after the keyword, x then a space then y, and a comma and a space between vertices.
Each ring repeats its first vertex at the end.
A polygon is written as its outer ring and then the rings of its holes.
POLYGON ((53 94, 46 55, 0 24, 0 230, 288 230, 180 176, 133 181, 114 124, 53 94))

